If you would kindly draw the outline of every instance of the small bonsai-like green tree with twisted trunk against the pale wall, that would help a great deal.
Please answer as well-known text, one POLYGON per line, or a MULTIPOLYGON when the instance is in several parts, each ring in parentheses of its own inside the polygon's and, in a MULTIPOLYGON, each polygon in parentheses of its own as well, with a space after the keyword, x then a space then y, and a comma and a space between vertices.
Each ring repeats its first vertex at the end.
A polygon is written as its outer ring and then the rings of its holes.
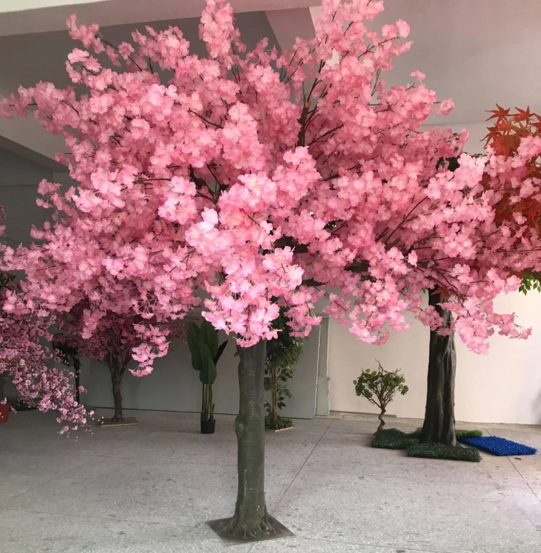
POLYGON ((407 394, 408 387, 405 384, 406 379, 400 374, 400 369, 385 371, 377 359, 376 362, 377 371, 365 369, 360 377, 353 381, 353 384, 357 395, 362 395, 381 410, 378 415, 380 425, 376 430, 379 432, 385 426, 383 416, 386 413, 387 405, 391 403, 396 392, 402 395, 407 394))

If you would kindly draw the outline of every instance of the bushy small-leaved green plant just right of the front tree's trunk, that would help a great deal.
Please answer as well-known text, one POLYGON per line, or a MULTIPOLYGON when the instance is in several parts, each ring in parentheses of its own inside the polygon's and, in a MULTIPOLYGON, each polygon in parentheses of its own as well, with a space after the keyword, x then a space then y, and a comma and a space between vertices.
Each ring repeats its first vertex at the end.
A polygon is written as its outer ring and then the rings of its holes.
POLYGON ((271 393, 271 400, 265 402, 269 415, 265 418, 267 429, 280 430, 293 426, 291 419, 284 419, 278 410, 285 407, 284 400, 293 396, 287 388, 287 381, 293 378, 293 367, 302 355, 303 340, 291 335, 291 327, 287 324, 283 309, 274 321, 278 337, 267 342, 267 359, 265 366, 265 390, 271 393))

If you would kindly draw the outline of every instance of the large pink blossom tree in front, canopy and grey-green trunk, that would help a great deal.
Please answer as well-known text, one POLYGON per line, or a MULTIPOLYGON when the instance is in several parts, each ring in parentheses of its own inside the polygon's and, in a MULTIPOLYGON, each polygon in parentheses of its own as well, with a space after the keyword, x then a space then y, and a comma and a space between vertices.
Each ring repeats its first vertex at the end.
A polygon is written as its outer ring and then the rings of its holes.
MULTIPOLYGON (((26 273, 25 297, 10 298, 8 310, 67 312, 88 299, 85 337, 108 311, 141 316, 135 374, 166 353, 166 321, 199 305, 199 289, 203 316, 235 336, 239 488, 224 524, 231 536, 273 531, 263 384, 280 307, 306 336, 326 297, 325 312, 359 340, 383 343, 389 328, 407 330, 407 310, 442 328, 435 307, 422 308, 422 290, 444 287, 454 329, 474 351, 485 351, 494 328, 524 335, 512 315, 495 314, 493 298, 520 284, 510 267, 539 264, 539 238, 495 224, 484 160, 463 154, 454 173, 437 168, 461 154, 466 134, 422 130, 434 109, 447 113, 453 104, 438 103, 421 73, 387 87, 385 72, 410 43, 403 21, 381 33, 366 27, 382 8, 381 0, 324 0, 316 38, 278 54, 266 40, 246 51, 230 5, 208 0, 199 26, 207 59, 191 55, 175 27, 146 27, 114 46, 97 25, 73 17, 70 33, 86 50, 74 49, 66 67, 86 92, 41 82, 1 108, 8 116, 33 110, 64 135, 70 154, 58 159, 78 182, 63 194, 41 183, 40 204, 59 216, 34 231, 43 244, 7 252, 26 273), (158 68, 172 74, 167 82, 158 68)), ((495 178, 508 169, 494 156, 487 163, 495 178)))

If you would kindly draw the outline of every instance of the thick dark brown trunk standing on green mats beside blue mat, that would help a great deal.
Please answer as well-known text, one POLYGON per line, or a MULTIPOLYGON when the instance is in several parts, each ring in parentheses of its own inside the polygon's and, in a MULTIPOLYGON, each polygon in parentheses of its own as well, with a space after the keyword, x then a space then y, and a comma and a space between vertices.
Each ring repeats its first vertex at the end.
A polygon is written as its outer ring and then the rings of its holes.
MULTIPOLYGON (((433 305, 449 328, 453 315, 442 309, 439 294, 429 291, 428 304, 433 305)), ((455 434, 455 374, 456 349, 454 333, 441 336, 430 331, 428 356, 427 404, 421 442, 424 444, 456 445, 455 434)))

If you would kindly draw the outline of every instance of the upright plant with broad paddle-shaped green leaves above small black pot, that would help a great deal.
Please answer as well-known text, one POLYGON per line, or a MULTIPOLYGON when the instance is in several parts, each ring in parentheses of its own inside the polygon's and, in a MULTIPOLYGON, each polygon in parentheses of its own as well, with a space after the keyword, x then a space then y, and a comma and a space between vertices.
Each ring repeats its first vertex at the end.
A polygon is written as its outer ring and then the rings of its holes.
POLYGON ((201 326, 190 322, 187 341, 192 354, 192 367, 199 372, 199 380, 203 384, 201 420, 214 420, 212 384, 218 375, 216 364, 227 346, 227 340, 219 345, 218 331, 208 321, 203 320, 201 326))

